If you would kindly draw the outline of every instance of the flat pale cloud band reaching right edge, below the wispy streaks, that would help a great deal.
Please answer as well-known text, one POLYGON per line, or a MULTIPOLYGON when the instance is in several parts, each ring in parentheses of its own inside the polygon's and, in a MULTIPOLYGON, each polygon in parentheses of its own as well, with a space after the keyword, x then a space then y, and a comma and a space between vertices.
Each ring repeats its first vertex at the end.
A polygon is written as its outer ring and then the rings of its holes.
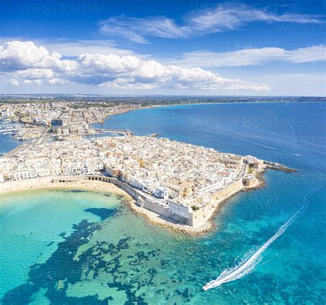
POLYGON ((326 61, 326 46, 315 45, 299 49, 286 50, 279 47, 241 49, 233 52, 187 52, 181 58, 169 60, 182 67, 243 67, 262 65, 269 62, 312 63, 326 61))

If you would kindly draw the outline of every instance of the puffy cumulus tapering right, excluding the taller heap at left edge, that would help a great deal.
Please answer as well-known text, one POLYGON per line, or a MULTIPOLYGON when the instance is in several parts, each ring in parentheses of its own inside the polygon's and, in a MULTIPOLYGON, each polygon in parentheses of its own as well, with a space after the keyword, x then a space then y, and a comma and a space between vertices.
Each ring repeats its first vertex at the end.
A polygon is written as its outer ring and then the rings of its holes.
MULTIPOLYGON (((107 87, 153 89, 168 86, 215 90, 231 88, 232 85, 237 84, 239 90, 268 90, 268 87, 263 84, 249 84, 237 79, 221 78, 218 74, 198 67, 162 65, 155 60, 141 60, 135 56, 82 54, 78 60, 81 69, 93 71, 96 76, 102 78, 109 78, 107 82, 100 83, 101 86, 107 87)), ((87 71, 83 72, 87 74, 87 71)))

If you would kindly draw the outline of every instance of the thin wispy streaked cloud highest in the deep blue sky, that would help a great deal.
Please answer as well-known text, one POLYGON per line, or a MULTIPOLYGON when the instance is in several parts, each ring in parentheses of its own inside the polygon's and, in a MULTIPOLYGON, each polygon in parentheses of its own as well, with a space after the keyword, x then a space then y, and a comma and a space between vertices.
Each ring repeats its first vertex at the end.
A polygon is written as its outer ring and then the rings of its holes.
POLYGON ((146 37, 193 38, 235 30, 247 23, 324 23, 323 15, 272 12, 242 3, 221 3, 214 8, 196 10, 184 16, 181 24, 165 16, 133 18, 115 16, 98 23, 100 32, 122 37, 134 43, 149 43, 146 37))

